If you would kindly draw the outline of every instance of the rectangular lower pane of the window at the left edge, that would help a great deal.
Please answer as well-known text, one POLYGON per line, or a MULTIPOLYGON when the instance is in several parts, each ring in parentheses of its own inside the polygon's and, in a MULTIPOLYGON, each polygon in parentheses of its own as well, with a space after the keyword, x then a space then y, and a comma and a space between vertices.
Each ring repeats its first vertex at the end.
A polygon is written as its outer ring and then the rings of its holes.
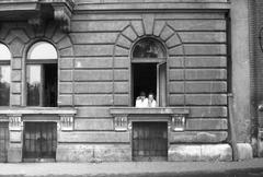
POLYGON ((10 67, 0 66, 0 106, 9 106, 10 67))

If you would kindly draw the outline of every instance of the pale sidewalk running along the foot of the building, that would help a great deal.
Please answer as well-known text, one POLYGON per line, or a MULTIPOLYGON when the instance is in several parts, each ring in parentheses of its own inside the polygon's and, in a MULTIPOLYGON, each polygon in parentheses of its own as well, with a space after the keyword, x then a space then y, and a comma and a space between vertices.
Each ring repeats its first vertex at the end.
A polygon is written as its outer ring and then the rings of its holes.
MULTIPOLYGON (((230 170, 260 172, 263 158, 243 162, 103 162, 103 163, 7 163, 0 164, 0 177, 52 176, 192 176, 230 170)), ((215 177, 215 176, 214 176, 215 177)))

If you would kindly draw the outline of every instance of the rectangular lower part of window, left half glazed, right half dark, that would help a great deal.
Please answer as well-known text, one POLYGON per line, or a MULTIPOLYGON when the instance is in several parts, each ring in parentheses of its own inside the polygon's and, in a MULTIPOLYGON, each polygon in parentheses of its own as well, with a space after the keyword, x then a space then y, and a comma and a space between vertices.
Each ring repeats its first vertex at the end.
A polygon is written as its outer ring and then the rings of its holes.
POLYGON ((57 106, 57 64, 27 66, 27 106, 57 106))

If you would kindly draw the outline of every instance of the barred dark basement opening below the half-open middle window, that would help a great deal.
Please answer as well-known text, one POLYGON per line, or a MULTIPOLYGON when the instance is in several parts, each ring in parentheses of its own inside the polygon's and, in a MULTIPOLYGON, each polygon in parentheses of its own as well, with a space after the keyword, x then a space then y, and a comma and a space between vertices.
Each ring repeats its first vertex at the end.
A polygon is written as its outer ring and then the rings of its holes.
POLYGON ((56 158, 56 122, 25 122, 23 158, 56 158))

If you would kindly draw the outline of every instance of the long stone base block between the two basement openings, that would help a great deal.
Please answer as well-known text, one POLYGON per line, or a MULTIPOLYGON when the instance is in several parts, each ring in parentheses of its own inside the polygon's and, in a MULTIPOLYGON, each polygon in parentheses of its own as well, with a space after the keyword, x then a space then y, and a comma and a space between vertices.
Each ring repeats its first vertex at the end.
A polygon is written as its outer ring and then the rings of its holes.
POLYGON ((57 162, 124 162, 132 161, 130 145, 59 144, 57 162))

